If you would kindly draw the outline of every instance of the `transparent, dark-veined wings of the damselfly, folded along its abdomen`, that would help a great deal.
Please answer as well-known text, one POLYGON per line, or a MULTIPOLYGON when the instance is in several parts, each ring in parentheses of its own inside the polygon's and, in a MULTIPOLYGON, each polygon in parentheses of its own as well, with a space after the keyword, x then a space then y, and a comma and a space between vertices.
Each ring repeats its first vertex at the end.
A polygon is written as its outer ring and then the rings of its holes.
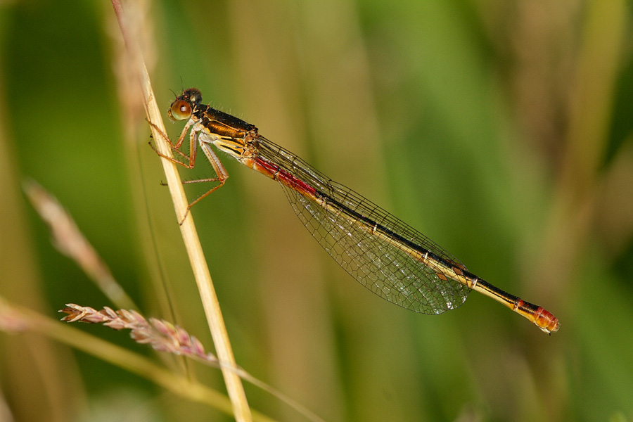
POLYGON ((402 248, 386 242, 368 229, 367 224, 359 222, 358 217, 364 223, 378 224, 401 241, 417 245, 466 270, 440 246, 271 141, 260 137, 258 150, 262 157, 314 187, 330 204, 341 205, 340 210, 334 212, 331 207, 324 207, 281 184, 290 205, 310 234, 363 286, 389 302, 423 314, 441 314, 459 307, 466 300, 469 291, 466 286, 451 279, 440 279, 437 268, 423 264, 402 248))

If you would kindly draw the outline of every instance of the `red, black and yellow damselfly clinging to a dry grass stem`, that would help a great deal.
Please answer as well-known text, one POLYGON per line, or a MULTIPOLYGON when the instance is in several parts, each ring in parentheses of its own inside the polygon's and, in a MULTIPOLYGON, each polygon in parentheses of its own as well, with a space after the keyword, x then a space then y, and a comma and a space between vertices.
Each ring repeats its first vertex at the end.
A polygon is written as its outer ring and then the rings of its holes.
POLYGON ((441 314, 459 307, 468 292, 476 290, 525 316, 542 331, 558 331, 558 319, 550 312, 468 272, 459 260, 419 231, 264 138, 254 125, 203 104, 198 89, 184 91, 168 114, 172 120, 187 120, 175 144, 165 135, 184 161, 156 152, 193 168, 200 146, 217 175, 203 179, 218 184, 189 208, 229 177, 211 148, 213 144, 243 165, 279 181, 316 241, 354 279, 381 298, 423 314, 441 314), (187 133, 188 155, 180 150, 187 133))

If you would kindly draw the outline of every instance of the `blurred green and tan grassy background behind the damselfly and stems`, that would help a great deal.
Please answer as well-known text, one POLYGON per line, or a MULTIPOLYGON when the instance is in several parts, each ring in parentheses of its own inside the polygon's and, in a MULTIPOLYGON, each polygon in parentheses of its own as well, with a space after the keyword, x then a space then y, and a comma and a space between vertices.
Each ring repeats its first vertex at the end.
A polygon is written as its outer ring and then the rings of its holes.
MULTIPOLYGON (((321 250, 279 186, 221 156, 231 177, 193 217, 244 369, 327 421, 633 421, 630 1, 129 11, 165 111, 170 89, 198 87, 561 321, 550 337, 476 293, 442 316, 391 305, 321 250)), ((53 319, 68 302, 114 306, 51 245, 20 192, 31 177, 141 313, 212 350, 121 42, 108 1, 0 4, 1 295, 53 319)), ((155 359, 127 333, 79 328, 155 359)), ((38 335, 0 342, 16 421, 229 420, 38 335)), ((217 369, 193 371, 224 390, 217 369)), ((304 420, 245 388, 253 409, 304 420)))

